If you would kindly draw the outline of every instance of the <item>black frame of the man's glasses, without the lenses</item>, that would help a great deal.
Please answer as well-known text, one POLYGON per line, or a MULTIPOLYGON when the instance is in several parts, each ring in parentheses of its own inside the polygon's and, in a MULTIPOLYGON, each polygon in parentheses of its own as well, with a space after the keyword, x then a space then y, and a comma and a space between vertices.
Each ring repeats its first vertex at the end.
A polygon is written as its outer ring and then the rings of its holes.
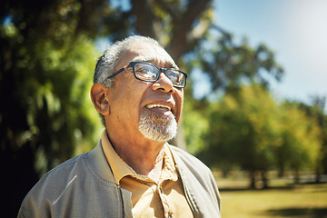
MULTIPOLYGON (((134 68, 135 64, 148 64, 148 65, 152 65, 152 66, 154 66, 155 68, 157 68, 157 69, 159 70, 160 73, 163 72, 163 74, 165 74, 166 76, 167 76, 167 74, 166 74, 165 72, 168 71, 168 70, 177 71, 177 72, 179 72, 180 74, 183 74, 183 76, 185 77, 185 82, 184 82, 183 85, 173 84, 173 87, 176 87, 176 88, 184 88, 184 87, 186 86, 187 74, 183 73, 183 71, 176 70, 176 69, 174 69, 174 68, 161 68, 161 67, 159 67, 159 66, 156 66, 156 65, 154 65, 154 64, 147 63, 147 62, 130 62, 129 64, 125 65, 123 68, 121 68, 121 69, 115 71, 113 74, 110 74, 106 79, 109 79, 109 78, 114 77, 114 75, 123 72, 123 71, 126 70, 128 67, 132 67, 132 69, 133 69, 133 74, 134 74, 135 79, 138 79, 138 80, 140 80, 140 81, 144 81, 144 82, 150 82, 150 83, 155 83, 155 82, 157 82, 157 81, 159 80, 160 74, 156 74, 156 77, 155 77, 154 80, 144 80, 144 79, 141 79, 141 78, 137 77, 137 75, 135 74, 135 68, 134 68)), ((167 77, 168 77, 168 76, 167 76, 167 77)), ((168 78, 169 78, 169 77, 168 77, 168 78)))

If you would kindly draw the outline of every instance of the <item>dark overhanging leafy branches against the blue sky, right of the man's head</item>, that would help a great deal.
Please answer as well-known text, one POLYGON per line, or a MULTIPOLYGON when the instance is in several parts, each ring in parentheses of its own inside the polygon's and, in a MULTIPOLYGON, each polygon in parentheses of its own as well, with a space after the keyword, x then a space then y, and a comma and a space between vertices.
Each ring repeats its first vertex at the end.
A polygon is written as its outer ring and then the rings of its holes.
POLYGON ((246 38, 235 43, 233 35, 216 29, 220 32, 208 32, 196 47, 193 61, 209 75, 213 91, 237 92, 242 84, 253 82, 268 87, 269 76, 277 81, 282 78, 282 66, 275 62, 273 52, 266 45, 251 47, 246 38))

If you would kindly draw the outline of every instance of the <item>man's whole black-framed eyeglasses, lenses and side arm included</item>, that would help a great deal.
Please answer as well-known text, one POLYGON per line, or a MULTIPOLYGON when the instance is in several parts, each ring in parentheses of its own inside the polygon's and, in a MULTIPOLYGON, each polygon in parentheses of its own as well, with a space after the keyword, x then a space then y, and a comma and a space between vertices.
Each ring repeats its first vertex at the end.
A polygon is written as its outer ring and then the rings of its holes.
POLYGON ((173 68, 161 68, 154 64, 146 62, 130 62, 122 69, 117 70, 113 74, 110 74, 107 79, 114 77, 114 75, 123 72, 128 67, 133 68, 134 77, 144 82, 154 83, 159 80, 160 73, 163 72, 173 83, 173 87, 184 88, 186 85, 187 74, 182 71, 173 68))

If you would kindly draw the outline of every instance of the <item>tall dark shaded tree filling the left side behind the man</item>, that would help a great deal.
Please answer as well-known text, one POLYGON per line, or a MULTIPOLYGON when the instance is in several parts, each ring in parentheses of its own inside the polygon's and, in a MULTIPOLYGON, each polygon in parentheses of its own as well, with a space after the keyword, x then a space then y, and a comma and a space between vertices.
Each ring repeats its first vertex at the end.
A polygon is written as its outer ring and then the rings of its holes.
POLYGON ((78 2, 4 5, 0 160, 5 216, 14 217, 39 176, 93 138, 97 125, 87 96, 99 54, 89 37, 78 34, 78 2))

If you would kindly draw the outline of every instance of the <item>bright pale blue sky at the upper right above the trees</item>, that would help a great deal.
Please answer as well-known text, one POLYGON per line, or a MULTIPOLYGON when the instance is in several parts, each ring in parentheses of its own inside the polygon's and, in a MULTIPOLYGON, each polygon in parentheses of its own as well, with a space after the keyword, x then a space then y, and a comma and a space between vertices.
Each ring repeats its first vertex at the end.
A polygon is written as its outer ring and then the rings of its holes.
POLYGON ((276 98, 327 97, 327 0, 214 0, 214 8, 216 25, 275 53, 284 69, 282 82, 271 81, 276 98))

